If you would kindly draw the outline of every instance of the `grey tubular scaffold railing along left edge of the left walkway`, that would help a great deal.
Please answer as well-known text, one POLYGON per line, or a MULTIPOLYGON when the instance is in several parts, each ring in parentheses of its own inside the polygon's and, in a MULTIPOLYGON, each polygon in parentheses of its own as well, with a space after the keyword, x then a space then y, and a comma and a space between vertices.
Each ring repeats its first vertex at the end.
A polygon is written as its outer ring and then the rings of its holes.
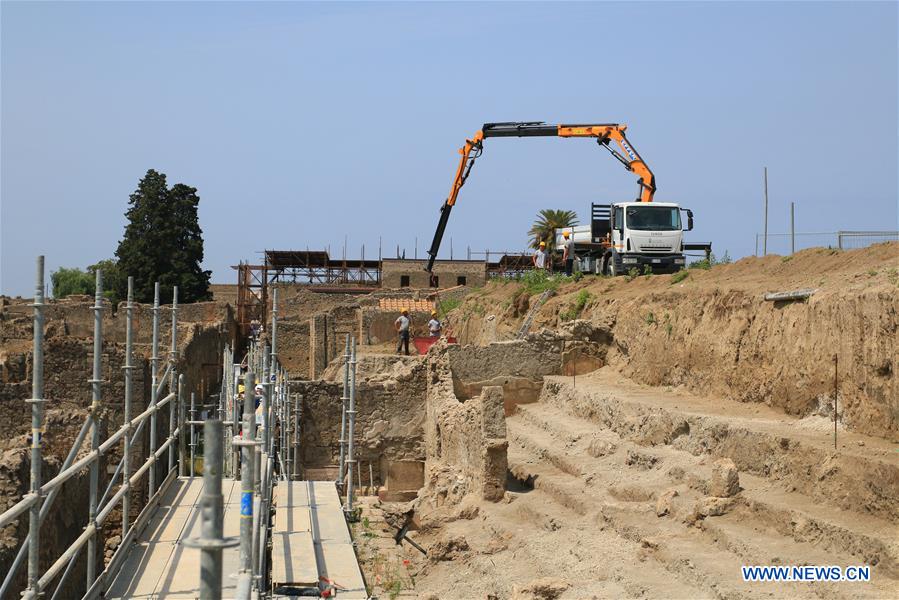
MULTIPOLYGON (((159 284, 156 284, 156 301, 153 310, 153 345, 152 345, 152 368, 153 368, 153 384, 151 386, 151 398, 149 407, 136 417, 131 416, 132 412, 132 393, 133 393, 133 317, 134 317, 134 301, 133 289, 134 280, 128 278, 128 300, 126 305, 126 341, 125 341, 125 398, 124 398, 124 415, 123 424, 115 432, 113 432, 106 440, 100 441, 100 428, 102 425, 101 413, 104 408, 102 398, 102 379, 101 379, 101 354, 103 347, 103 329, 102 329, 102 311, 103 307, 103 275, 101 271, 96 273, 96 290, 94 295, 94 340, 93 340, 93 368, 89 383, 91 384, 91 406, 90 412, 81 427, 78 436, 75 439, 69 453, 60 468, 59 473, 52 477, 49 481, 42 483, 42 435, 43 435, 43 405, 46 399, 44 395, 44 354, 43 354, 43 309, 44 309, 44 257, 37 259, 37 277, 35 285, 34 303, 34 348, 33 348, 33 368, 32 368, 32 398, 27 402, 31 404, 31 480, 29 493, 25 494, 21 500, 0 515, 0 527, 6 526, 14 522, 26 512, 29 515, 28 538, 19 548, 19 552, 13 560, 9 570, 5 574, 2 587, 0 587, 0 597, 8 597, 12 582, 15 579, 25 555, 28 556, 28 580, 23 598, 38 598, 46 595, 51 584, 59 578, 56 583, 55 591, 51 598, 60 597, 63 586, 74 570, 74 566, 83 549, 87 549, 86 559, 86 598, 97 597, 103 588, 105 581, 110 580, 117 569, 121 567, 125 553, 131 542, 135 539, 143 526, 149 520, 149 515, 159 502, 160 497, 168 489, 175 476, 175 444, 181 432, 180 423, 176 421, 176 414, 180 415, 181 411, 176 410, 176 403, 181 403, 183 390, 183 377, 177 375, 176 359, 177 359, 177 288, 174 291, 174 300, 172 304, 172 350, 170 358, 166 366, 166 375, 168 376, 168 394, 163 398, 159 398, 162 386, 157 384, 158 370, 158 330, 159 330, 159 284), (176 383, 177 382, 177 383, 176 383), (157 415, 160 410, 169 406, 169 433, 165 441, 158 448, 156 447, 156 425, 157 415), (131 448, 139 436, 147 422, 150 423, 150 447, 151 451, 147 459, 133 473, 131 472, 131 448), (82 458, 75 460, 81 446, 83 445, 87 434, 90 432, 90 451, 82 458), (107 456, 119 443, 122 444, 122 458, 118 463, 114 475, 110 479, 103 495, 100 495, 100 460, 101 457, 107 456), (168 469, 161 484, 157 487, 156 465, 162 459, 164 453, 168 451, 168 469), (74 542, 63 550, 53 564, 47 568, 43 574, 40 572, 38 557, 40 556, 40 528, 41 523, 47 517, 54 501, 58 497, 63 484, 72 479, 74 476, 87 470, 89 472, 89 506, 88 521, 84 531, 74 542), (145 475, 147 477, 148 501, 144 508, 134 519, 134 523, 130 520, 130 508, 132 494, 138 490, 138 486, 145 475), (119 474, 121 479, 119 480, 119 474), (118 481, 118 489, 112 496, 112 489, 118 481), (106 568, 99 574, 97 573, 97 534, 101 531, 104 523, 109 518, 113 509, 122 504, 122 541, 110 559, 106 568)), ((163 376, 165 379, 166 375, 163 376)))

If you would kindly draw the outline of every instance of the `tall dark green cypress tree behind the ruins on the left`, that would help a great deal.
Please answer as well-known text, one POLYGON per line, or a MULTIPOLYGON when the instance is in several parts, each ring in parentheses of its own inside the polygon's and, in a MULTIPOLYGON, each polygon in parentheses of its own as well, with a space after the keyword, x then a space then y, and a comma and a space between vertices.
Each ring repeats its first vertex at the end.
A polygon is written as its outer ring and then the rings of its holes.
POLYGON ((156 281, 162 302, 171 302, 176 285, 179 302, 209 299, 211 272, 200 266, 203 231, 197 216, 200 197, 196 188, 179 183, 169 189, 165 174, 150 169, 128 204, 128 224, 116 250, 118 296, 126 297, 131 275, 138 302, 153 301, 156 281))

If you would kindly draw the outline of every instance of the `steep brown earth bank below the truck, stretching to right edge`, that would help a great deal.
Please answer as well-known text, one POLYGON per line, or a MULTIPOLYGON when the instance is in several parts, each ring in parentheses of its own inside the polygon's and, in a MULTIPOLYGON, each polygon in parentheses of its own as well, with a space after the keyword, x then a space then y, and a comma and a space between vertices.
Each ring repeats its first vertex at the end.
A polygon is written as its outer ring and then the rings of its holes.
MULTIPOLYGON (((452 313, 462 343, 514 337, 521 288, 494 282, 471 294, 452 313)), ((750 257, 676 276, 587 276, 563 283, 532 329, 572 317, 608 328, 608 364, 636 381, 800 417, 832 418, 836 370, 841 423, 899 439, 899 243, 750 257), (800 288, 816 291, 807 301, 764 299, 800 288)))

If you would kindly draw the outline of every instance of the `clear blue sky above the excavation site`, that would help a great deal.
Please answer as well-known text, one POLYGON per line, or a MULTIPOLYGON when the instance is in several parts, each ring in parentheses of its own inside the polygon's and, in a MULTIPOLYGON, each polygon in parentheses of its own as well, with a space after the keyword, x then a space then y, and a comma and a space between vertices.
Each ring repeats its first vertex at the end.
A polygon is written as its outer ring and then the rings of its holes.
MULTIPOLYGON (((205 267, 266 248, 423 257, 465 137, 620 122, 692 239, 897 228, 897 4, 0 5, 0 291, 113 255, 147 169, 199 189, 205 267)), ((517 250, 541 208, 630 200, 588 140, 487 140, 444 240, 517 250)))

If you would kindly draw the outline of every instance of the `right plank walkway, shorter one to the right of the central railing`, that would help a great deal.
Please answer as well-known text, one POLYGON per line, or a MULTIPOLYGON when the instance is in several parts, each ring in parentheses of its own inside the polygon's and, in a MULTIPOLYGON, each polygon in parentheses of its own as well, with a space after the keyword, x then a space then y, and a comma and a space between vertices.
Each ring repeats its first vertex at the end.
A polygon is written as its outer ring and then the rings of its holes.
POLYGON ((338 598, 368 598, 334 482, 279 481, 274 498, 273 595, 317 587, 322 576, 340 586, 338 598))

